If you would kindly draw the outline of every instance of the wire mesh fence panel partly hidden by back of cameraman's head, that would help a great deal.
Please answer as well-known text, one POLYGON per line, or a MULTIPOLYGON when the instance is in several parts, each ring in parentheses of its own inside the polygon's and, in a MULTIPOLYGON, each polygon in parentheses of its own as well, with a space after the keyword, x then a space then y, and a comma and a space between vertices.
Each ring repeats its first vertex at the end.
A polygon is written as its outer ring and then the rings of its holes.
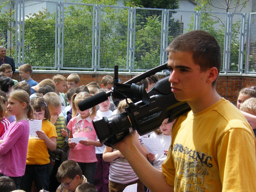
MULTIPOLYGON (((207 31, 220 44, 220 49, 222 50, 222 55, 224 55, 225 47, 226 47, 226 15, 227 13, 221 12, 200 12, 200 20, 199 20, 199 29, 207 31)), ((226 70, 225 67, 221 66, 220 71, 226 70)))

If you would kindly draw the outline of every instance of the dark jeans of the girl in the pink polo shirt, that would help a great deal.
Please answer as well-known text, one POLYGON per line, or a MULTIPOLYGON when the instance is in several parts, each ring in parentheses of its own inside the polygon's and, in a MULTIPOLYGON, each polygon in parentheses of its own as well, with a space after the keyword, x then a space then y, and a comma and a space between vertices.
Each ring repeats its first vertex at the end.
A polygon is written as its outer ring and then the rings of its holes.
POLYGON ((81 167, 84 177, 86 177, 87 181, 93 185, 94 174, 96 172, 96 162, 93 162, 93 163, 77 162, 77 163, 81 167))

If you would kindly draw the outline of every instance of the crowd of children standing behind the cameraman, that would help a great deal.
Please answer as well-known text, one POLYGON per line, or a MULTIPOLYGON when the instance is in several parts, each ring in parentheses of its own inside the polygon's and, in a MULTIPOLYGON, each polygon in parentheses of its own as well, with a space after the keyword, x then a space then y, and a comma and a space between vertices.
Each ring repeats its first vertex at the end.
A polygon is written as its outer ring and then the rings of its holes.
MULTIPOLYGON (((117 192, 136 183, 137 191, 144 191, 122 153, 101 144, 92 124, 93 119, 124 112, 132 100, 115 105, 108 97, 84 111, 78 107, 80 101, 112 90, 113 77, 104 76, 101 87, 96 82, 79 84, 75 73, 37 83, 31 79, 32 71, 29 64, 20 66, 22 81, 18 82, 11 79, 9 64, 0 66, 0 190, 117 192), (30 135, 29 122, 33 120, 42 122, 36 135, 30 135)), ((137 84, 149 91, 158 80, 157 75, 151 75, 137 84)), ((256 133, 255 87, 239 92, 237 108, 256 133)), ((148 153, 138 134, 134 139, 141 154, 159 170, 171 144, 174 122, 164 119, 149 136, 159 138, 163 154, 148 153)))

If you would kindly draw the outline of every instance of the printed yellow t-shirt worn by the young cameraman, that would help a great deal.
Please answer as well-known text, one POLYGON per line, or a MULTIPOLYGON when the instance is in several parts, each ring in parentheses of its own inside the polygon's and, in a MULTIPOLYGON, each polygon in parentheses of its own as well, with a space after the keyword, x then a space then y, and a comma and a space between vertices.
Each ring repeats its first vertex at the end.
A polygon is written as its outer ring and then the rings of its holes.
POLYGON ((174 191, 255 191, 256 140, 252 128, 229 101, 180 116, 162 164, 174 191))

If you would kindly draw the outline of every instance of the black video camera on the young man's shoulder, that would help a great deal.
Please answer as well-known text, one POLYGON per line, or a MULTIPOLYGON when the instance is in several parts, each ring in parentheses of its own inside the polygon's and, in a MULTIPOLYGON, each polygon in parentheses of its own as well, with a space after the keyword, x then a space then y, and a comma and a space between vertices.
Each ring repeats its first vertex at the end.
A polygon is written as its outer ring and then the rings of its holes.
MULTIPOLYGON (((164 119, 169 118, 169 122, 171 122, 184 112, 190 110, 187 102, 175 99, 168 81, 169 76, 157 81, 148 92, 145 91, 143 85, 139 86, 132 83, 138 82, 166 68, 167 63, 136 76, 124 84, 120 84, 118 83, 118 66, 115 66, 113 91, 104 92, 106 95, 104 98, 102 97, 102 100, 100 100, 100 96, 98 98, 95 97, 95 99, 91 97, 90 99, 92 101, 98 100, 97 103, 99 104, 107 100, 108 96, 112 93, 114 98, 130 98, 133 101, 140 101, 132 103, 132 105, 129 104, 129 107, 126 107, 123 113, 93 120, 93 126, 101 143, 107 146, 115 144, 129 133, 131 127, 133 130, 137 130, 140 135, 146 134, 157 129, 164 119)), ((80 110, 91 107, 82 102, 79 103, 80 105, 78 104, 80 110)), ((95 104, 95 102, 91 103, 95 104)))

